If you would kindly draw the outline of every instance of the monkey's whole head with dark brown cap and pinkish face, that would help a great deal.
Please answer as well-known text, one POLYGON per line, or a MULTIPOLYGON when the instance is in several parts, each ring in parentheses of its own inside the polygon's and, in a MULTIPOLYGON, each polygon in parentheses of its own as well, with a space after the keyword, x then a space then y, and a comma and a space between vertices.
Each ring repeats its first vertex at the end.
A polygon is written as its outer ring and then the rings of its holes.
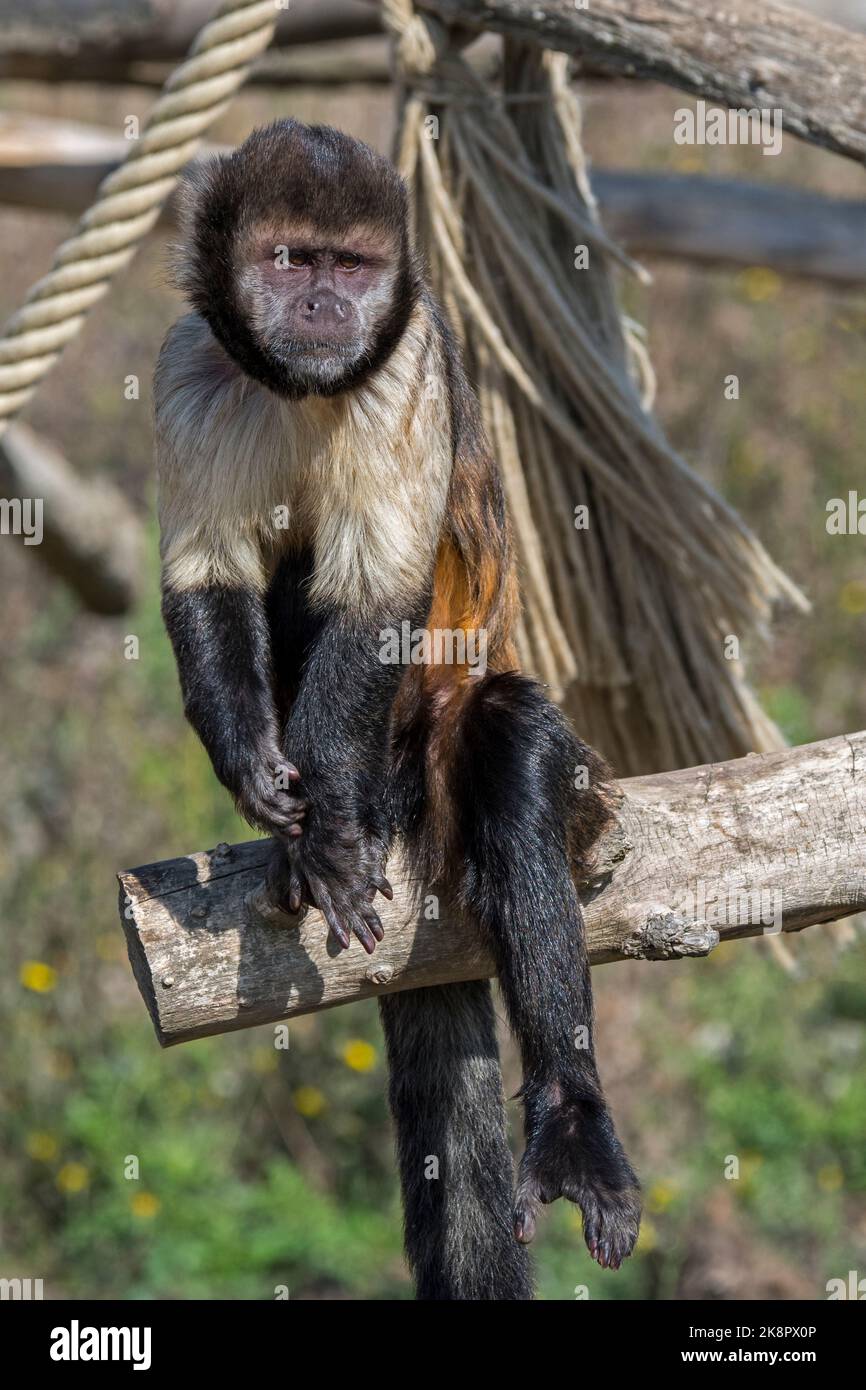
POLYGON ((186 182, 178 279, 247 375, 284 396, 357 385, 418 297, 396 170, 327 125, 277 121, 186 182))

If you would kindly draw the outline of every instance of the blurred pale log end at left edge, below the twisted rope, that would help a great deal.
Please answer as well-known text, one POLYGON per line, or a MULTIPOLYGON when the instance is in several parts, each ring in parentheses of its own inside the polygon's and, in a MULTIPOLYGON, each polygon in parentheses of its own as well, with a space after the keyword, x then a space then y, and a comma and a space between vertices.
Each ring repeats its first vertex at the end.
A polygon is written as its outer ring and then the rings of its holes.
MULTIPOLYGON (((107 478, 79 477, 47 439, 14 421, 0 436, 0 498, 4 518, 8 507, 28 507, 33 541, 18 532, 19 543, 68 584, 85 607, 104 616, 132 607, 142 574, 142 524, 107 478)), ((15 534, 11 527, 10 532, 15 534)))

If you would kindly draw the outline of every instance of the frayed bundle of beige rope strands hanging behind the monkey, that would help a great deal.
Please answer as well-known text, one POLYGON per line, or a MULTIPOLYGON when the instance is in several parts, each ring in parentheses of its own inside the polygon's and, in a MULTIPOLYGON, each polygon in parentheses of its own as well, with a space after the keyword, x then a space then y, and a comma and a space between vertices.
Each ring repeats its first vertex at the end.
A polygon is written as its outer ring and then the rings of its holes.
POLYGON ((620 774, 777 746, 724 637, 765 634, 777 600, 805 600, 648 413, 652 367, 612 277, 635 267, 598 220, 567 58, 509 44, 502 93, 461 58, 461 35, 411 0, 382 10, 416 235, 513 516, 521 662, 620 774))

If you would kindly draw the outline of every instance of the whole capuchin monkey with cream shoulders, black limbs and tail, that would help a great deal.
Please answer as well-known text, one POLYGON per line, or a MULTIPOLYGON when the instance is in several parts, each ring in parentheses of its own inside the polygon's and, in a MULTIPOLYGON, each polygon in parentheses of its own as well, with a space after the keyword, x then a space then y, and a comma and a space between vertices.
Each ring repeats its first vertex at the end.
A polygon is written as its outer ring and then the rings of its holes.
POLYGON ((192 175, 178 277, 192 313, 160 354, 156 434, 186 716, 275 840, 275 902, 373 951, 399 835, 482 931, 520 1047, 514 1193, 488 981, 379 1001, 418 1297, 531 1298, 525 1245, 560 1195, 616 1269, 638 1183, 596 1070, 574 888, 609 773, 517 670, 502 482, 405 186, 359 140, 278 121, 192 175), (384 660, 406 621, 484 632, 487 671, 384 660))

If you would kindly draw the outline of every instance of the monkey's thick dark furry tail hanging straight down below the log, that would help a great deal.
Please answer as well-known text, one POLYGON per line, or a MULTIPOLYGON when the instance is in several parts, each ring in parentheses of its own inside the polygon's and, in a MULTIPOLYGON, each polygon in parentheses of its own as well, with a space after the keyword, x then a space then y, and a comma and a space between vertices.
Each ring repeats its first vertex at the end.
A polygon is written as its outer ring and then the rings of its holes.
POLYGON ((379 1009, 418 1298, 531 1298, 489 984, 409 990, 379 1009))

